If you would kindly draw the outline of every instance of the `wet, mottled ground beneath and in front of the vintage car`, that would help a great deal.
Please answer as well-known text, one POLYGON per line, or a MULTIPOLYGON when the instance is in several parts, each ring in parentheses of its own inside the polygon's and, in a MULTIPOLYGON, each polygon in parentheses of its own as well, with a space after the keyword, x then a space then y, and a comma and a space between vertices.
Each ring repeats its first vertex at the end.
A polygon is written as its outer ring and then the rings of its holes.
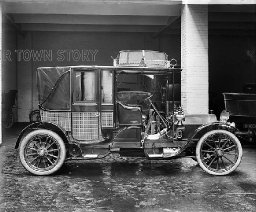
POLYGON ((19 128, 0 148, 0 211, 256 211, 256 148, 244 147, 229 176, 206 174, 192 159, 109 157, 69 162, 56 175, 30 175, 14 150, 19 128))

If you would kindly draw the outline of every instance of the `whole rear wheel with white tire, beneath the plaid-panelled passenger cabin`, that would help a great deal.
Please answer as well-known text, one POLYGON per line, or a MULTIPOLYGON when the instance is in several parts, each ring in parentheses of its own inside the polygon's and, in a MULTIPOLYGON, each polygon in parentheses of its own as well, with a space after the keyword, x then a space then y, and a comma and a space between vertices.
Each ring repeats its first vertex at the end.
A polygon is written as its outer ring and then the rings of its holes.
POLYGON ((20 143, 22 165, 35 175, 50 175, 58 171, 66 159, 66 147, 53 131, 39 129, 27 134, 20 143))

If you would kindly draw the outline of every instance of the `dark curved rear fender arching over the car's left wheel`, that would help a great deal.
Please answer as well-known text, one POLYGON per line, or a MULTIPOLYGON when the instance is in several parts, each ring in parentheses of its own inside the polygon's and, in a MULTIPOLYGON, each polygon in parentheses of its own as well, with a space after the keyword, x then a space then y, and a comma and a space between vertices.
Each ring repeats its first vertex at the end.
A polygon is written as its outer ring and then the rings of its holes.
POLYGON ((33 130, 37 130, 37 129, 51 130, 51 131, 57 133, 63 139, 64 143, 68 143, 68 139, 66 136, 67 132, 60 126, 50 123, 50 122, 35 122, 35 123, 28 125, 21 131, 21 133, 19 134, 19 136, 17 138, 16 144, 15 144, 15 149, 17 149, 19 147, 20 141, 23 138, 23 136, 26 135, 26 133, 33 131, 33 130))

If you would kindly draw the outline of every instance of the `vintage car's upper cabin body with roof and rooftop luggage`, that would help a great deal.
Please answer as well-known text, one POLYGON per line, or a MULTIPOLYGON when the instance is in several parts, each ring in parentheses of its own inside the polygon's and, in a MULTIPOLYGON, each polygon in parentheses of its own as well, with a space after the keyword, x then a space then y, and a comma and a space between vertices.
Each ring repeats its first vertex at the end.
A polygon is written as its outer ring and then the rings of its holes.
POLYGON ((180 105, 180 69, 155 51, 121 51, 113 66, 38 68, 41 120, 83 143, 104 140, 102 130, 142 126, 145 98, 163 113, 180 105), (138 59, 139 58, 139 59, 138 59), (155 59, 154 59, 155 58, 155 59))

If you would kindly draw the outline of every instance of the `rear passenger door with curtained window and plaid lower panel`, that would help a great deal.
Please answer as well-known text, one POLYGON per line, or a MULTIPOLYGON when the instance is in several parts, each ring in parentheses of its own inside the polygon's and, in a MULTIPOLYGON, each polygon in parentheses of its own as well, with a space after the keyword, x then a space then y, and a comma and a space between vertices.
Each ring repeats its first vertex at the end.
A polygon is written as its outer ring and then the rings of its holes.
POLYGON ((72 136, 81 142, 102 140, 100 128, 99 70, 72 72, 72 136))

